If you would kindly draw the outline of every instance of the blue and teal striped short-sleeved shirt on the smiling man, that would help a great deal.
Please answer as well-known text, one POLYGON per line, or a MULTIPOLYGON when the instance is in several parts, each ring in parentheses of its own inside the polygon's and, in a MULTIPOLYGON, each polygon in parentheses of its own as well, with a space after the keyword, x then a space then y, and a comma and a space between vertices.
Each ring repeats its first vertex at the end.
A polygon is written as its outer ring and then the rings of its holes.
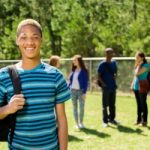
MULTIPOLYGON (((40 63, 32 70, 19 68, 17 71, 25 105, 17 113, 14 138, 9 148, 59 149, 55 105, 70 99, 70 91, 62 73, 46 63, 40 63)), ((7 67, 0 70, 0 106, 5 93, 9 102, 14 91, 7 67)))

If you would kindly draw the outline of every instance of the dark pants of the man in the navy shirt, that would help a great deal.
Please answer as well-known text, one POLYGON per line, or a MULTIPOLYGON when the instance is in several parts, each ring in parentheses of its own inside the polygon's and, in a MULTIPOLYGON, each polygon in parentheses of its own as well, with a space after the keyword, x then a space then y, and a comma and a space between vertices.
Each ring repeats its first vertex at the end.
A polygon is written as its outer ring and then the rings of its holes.
POLYGON ((113 121, 116 116, 116 90, 102 89, 103 122, 113 121))

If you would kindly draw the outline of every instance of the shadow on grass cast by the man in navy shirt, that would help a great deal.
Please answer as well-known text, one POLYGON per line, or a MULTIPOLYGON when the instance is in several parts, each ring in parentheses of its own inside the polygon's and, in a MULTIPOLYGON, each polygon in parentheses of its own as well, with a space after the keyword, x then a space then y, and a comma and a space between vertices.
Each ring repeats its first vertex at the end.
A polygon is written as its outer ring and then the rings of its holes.
POLYGON ((143 130, 141 130, 139 128, 132 129, 132 128, 129 128, 129 127, 126 127, 126 126, 123 126, 123 125, 119 125, 117 127, 117 129, 118 129, 118 131, 124 132, 124 133, 136 133, 136 134, 139 134, 139 135, 147 136, 145 134, 142 134, 143 130))

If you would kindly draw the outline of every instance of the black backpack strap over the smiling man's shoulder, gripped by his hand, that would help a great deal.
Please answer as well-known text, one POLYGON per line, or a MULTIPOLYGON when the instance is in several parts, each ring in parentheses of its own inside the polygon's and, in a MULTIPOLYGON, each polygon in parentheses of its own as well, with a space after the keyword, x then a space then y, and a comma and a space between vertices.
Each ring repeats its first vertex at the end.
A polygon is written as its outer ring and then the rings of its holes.
MULTIPOLYGON (((10 75, 10 78, 11 78, 11 81, 13 84, 14 94, 21 94, 21 82, 20 82, 19 74, 16 70, 15 65, 8 67, 8 73, 10 75)), ((12 125, 10 128, 10 144, 12 143, 13 136, 14 136, 14 130, 15 130, 15 124, 16 124, 16 115, 17 115, 17 113, 15 113, 11 116, 12 125)))

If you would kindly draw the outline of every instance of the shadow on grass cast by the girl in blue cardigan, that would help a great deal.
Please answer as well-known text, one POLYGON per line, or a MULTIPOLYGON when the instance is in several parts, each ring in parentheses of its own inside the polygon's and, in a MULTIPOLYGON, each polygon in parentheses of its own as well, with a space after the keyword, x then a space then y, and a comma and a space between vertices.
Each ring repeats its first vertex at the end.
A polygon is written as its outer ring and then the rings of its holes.
POLYGON ((109 134, 106 134, 106 133, 103 133, 103 132, 99 132, 99 131, 94 130, 94 129, 83 128, 83 129, 81 129, 81 131, 85 132, 86 134, 96 135, 96 136, 101 137, 101 138, 110 137, 109 134))

